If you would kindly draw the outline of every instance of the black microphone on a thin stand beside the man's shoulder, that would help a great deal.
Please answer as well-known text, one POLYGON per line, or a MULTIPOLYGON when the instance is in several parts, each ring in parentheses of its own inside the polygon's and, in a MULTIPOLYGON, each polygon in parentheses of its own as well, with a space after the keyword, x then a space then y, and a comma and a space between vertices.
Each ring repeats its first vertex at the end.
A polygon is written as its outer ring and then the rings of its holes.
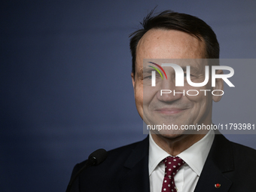
POLYGON ((88 157, 87 162, 85 165, 75 174, 75 176, 72 178, 72 180, 69 181, 69 185, 67 187, 66 192, 69 192, 71 190, 71 186, 74 183, 75 179, 80 175, 84 169, 87 169, 90 166, 98 166, 100 163, 102 163, 106 158, 108 157, 107 151, 105 151, 104 148, 100 148, 93 153, 91 153, 88 157))

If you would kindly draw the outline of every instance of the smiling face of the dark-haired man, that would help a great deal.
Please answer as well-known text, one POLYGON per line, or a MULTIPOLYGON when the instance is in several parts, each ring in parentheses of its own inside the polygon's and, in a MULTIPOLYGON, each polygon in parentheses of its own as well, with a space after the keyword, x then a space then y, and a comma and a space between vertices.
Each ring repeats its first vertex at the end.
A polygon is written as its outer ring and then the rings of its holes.
MULTIPOLYGON (((168 80, 156 80, 156 87, 151 87, 147 75, 143 73, 143 59, 203 59, 206 58, 205 44, 203 41, 175 30, 151 29, 142 37, 136 52, 136 75, 133 87, 136 107, 140 116, 148 125, 190 125, 212 123, 212 93, 199 91, 197 96, 188 96, 178 93, 173 95, 163 94, 160 89, 187 92, 187 90, 212 90, 211 81, 204 87, 191 87, 184 78, 184 87, 175 87, 175 72, 172 67, 163 67, 168 80), (144 85, 143 85, 144 82, 144 85), (143 96, 144 91, 144 96, 143 96)), ((158 63, 161 65, 161 63, 158 63)), ((182 68, 185 63, 176 63, 182 68)), ((200 83, 205 80, 205 64, 190 62, 190 69, 194 69, 191 81, 200 83)), ((144 66, 145 69, 145 66, 144 66)), ((184 72, 186 73, 186 72, 184 72)), ((192 75, 192 70, 191 70, 192 75)), ((133 76, 133 75, 132 75, 133 76)), ((220 99, 220 98, 219 98, 220 99)), ((179 136, 184 130, 159 132, 170 138, 179 136)))

